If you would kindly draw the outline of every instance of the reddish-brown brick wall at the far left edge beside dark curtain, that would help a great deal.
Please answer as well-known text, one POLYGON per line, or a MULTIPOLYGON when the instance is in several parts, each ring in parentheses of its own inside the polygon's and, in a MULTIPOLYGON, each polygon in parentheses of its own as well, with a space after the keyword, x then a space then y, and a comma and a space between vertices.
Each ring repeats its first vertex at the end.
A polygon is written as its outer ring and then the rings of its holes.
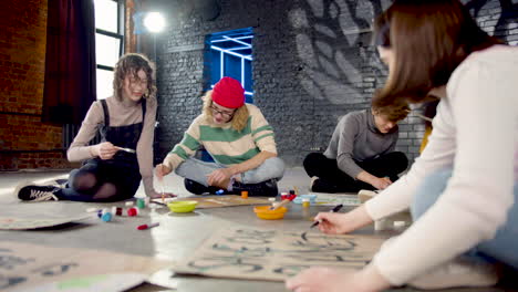
POLYGON ((69 167, 60 126, 41 121, 46 0, 0 4, 0 170, 69 167))

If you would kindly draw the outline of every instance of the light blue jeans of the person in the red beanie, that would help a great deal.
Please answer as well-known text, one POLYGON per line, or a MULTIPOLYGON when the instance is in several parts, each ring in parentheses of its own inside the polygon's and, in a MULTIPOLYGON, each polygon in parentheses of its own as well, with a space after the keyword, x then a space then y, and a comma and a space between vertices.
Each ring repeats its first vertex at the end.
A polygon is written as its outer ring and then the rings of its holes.
MULTIPOLYGON (((176 168, 176 174, 208 187, 207 175, 216 169, 227 167, 218 163, 205 163, 188 158, 176 168)), ((241 182, 259 184, 272 178, 280 180, 283 175, 284 161, 278 157, 271 157, 266 159, 259 167, 242 173, 241 182)))

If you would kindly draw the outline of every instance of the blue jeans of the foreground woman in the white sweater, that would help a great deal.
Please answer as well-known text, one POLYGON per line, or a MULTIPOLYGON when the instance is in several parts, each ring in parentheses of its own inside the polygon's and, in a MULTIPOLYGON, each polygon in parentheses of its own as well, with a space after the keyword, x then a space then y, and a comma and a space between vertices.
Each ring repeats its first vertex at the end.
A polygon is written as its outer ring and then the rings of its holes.
MULTIPOLYGON (((425 213, 443 194, 452 173, 453 169, 447 168, 425 178, 411 206, 414 221, 425 213)), ((478 243, 465 255, 478 261, 496 260, 518 269, 518 184, 515 184, 514 195, 515 205, 508 211, 507 221, 498 229, 495 238, 478 243)))

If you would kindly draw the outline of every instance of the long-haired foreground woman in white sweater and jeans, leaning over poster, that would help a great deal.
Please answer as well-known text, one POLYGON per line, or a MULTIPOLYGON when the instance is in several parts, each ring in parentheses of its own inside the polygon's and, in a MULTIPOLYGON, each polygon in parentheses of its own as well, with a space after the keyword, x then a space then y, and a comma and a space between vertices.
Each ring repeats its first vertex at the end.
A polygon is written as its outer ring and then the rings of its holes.
POLYGON ((493 285, 496 263, 518 269, 518 48, 488 36, 457 0, 396 0, 382 17, 394 58, 375 103, 438 96, 434 129, 406 176, 351 212, 315 220, 346 233, 411 208, 414 223, 363 270, 312 268, 287 288, 493 285))

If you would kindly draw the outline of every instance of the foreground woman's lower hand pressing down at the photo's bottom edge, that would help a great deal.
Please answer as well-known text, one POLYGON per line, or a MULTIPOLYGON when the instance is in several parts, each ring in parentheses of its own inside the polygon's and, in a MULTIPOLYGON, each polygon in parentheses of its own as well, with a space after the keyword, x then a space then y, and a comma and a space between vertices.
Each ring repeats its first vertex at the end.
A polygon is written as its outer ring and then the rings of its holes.
POLYGON ((372 292, 367 279, 358 272, 340 271, 330 268, 310 268, 286 280, 286 288, 296 292, 372 292))

